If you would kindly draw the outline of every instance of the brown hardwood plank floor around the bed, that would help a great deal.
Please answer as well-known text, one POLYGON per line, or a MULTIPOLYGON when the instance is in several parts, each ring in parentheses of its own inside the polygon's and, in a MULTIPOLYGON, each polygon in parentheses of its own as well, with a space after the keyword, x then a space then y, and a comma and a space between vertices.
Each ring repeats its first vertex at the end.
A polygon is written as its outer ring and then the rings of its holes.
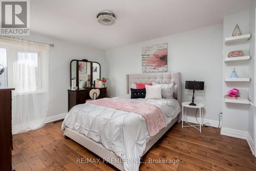
MULTIPOLYGON (((16 170, 116 170, 110 164, 77 164, 77 158, 98 157, 60 131, 61 122, 13 136, 16 170)), ((220 130, 175 124, 143 157, 140 170, 256 170, 256 158, 246 140, 220 135, 220 130), (149 159, 178 159, 177 164, 148 163, 149 159)))

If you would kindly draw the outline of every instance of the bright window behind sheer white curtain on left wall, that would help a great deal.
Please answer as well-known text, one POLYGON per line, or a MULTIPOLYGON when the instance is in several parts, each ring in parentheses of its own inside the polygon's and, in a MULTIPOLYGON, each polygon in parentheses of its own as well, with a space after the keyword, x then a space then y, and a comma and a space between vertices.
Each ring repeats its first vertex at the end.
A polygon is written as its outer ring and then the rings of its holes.
POLYGON ((0 37, 0 64, 5 68, 0 82, 2 86, 15 88, 14 95, 48 92, 48 63, 49 46, 0 37))

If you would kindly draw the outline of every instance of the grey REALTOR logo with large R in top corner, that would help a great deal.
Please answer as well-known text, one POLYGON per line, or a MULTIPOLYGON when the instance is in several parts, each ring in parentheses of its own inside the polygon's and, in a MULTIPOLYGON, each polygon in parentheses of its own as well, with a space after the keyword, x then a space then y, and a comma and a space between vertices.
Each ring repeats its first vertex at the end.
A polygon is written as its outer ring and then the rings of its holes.
POLYGON ((29 35, 29 0, 0 0, 2 35, 29 35))

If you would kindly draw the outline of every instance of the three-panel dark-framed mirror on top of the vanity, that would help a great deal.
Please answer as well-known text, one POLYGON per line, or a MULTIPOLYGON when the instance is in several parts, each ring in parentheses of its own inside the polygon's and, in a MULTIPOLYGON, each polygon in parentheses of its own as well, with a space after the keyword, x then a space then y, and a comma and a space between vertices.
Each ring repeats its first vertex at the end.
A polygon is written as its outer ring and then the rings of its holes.
POLYGON ((72 90, 94 87, 94 82, 101 77, 101 68, 98 62, 86 59, 70 62, 70 86, 72 90))

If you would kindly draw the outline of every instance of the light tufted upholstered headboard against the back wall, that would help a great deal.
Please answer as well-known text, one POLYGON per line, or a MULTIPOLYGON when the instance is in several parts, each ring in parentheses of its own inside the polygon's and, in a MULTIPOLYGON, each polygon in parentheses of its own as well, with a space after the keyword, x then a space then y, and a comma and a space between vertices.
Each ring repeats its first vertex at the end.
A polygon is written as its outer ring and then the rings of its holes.
POLYGON ((181 83, 180 73, 146 73, 146 74, 127 74, 126 75, 126 91, 129 94, 132 82, 147 83, 174 83, 174 98, 181 103, 181 83))

